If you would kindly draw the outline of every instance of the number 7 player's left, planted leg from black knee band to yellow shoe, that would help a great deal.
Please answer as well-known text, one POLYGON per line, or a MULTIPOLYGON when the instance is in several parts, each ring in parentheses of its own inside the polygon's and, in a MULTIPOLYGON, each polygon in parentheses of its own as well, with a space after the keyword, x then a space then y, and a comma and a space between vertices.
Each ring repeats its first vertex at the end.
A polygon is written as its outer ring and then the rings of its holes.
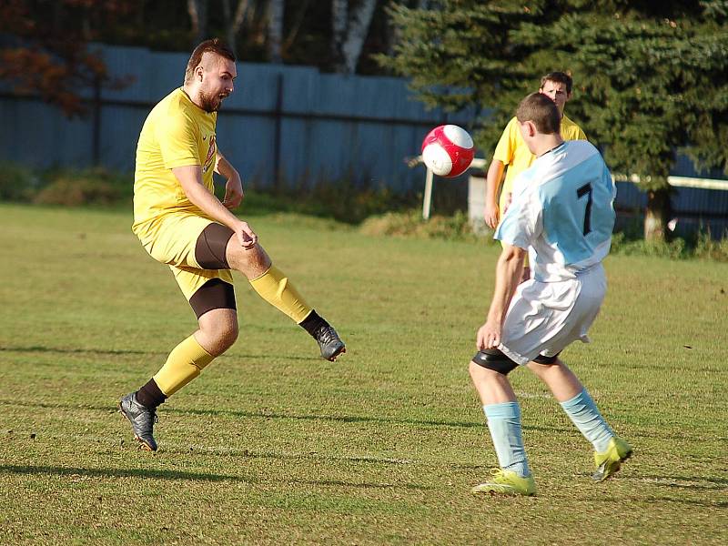
POLYGON ((470 378, 480 396, 501 467, 493 470, 490 480, 475 486, 473 493, 533 495, 536 492, 523 446, 521 407, 507 377, 516 367, 498 349, 480 351, 470 361, 470 378))

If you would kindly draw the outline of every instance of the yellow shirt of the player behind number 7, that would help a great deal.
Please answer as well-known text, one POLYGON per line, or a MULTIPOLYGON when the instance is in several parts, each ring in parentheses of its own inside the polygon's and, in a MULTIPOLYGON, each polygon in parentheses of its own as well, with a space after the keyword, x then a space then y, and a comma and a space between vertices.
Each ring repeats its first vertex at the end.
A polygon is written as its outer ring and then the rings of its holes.
MULTIPOLYGON (((587 140, 581 127, 576 125, 567 116, 561 118, 561 137, 564 140, 587 140)), ((513 191, 513 180, 528 167, 531 167, 534 159, 529 147, 526 146, 523 140, 523 136, 521 136, 521 131, 518 128, 518 119, 515 117, 503 129, 501 140, 498 141, 498 146, 495 147, 495 152, 493 152, 493 159, 498 159, 507 167, 506 179, 503 182, 501 197, 498 201, 498 207, 501 210, 502 216, 508 194, 513 191)))

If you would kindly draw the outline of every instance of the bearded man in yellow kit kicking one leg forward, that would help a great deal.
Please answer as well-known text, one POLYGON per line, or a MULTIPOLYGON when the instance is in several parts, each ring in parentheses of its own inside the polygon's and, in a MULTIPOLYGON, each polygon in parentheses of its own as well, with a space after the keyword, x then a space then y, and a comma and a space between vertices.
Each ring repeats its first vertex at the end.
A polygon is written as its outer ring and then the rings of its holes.
POLYGON ((157 406, 238 339, 232 269, 306 329, 323 358, 333 361, 346 351, 336 330, 273 266, 252 227, 229 210, 240 204, 243 187, 217 147, 215 127, 217 110, 233 92, 236 76, 235 56, 226 45, 217 39, 198 45, 184 86, 152 109, 136 147, 132 230, 152 258, 171 268, 198 323, 157 374, 119 403, 146 450, 157 450, 157 406), (222 202, 213 192, 213 172, 227 179, 222 202))

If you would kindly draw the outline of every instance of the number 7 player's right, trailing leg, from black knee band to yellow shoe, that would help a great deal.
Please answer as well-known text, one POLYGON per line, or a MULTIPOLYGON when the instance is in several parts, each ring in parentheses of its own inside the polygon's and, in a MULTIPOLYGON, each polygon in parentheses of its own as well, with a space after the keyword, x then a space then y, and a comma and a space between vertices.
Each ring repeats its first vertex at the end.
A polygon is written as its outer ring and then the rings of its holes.
POLYGON ((632 456, 632 446, 614 434, 571 369, 555 357, 540 357, 528 367, 546 383, 571 422, 591 442, 596 466, 592 479, 603 481, 620 470, 622 462, 632 456))

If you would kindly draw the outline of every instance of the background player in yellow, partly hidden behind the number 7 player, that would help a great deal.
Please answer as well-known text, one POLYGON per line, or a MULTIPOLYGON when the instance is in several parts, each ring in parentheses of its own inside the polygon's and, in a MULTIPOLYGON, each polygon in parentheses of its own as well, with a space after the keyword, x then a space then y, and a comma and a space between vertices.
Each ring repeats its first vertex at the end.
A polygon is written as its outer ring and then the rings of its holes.
MULTIPOLYGON (((564 115, 563 109, 567 101, 571 98, 571 87, 573 80, 571 76, 563 72, 550 72, 546 76, 541 77, 541 87, 539 92, 549 96, 556 103, 561 114, 561 137, 564 140, 586 140, 586 135, 581 127, 576 125, 571 119, 564 115)), ((524 170, 531 167, 531 163, 535 156, 531 154, 529 147, 526 146, 521 131, 519 130, 518 120, 513 117, 503 130, 501 140, 493 152, 493 158, 490 161, 488 175, 485 181, 485 223, 495 229, 501 217, 505 214, 505 209, 511 203, 511 194, 513 192, 513 180, 518 177, 524 170), (507 167, 507 168, 506 168, 507 167), (498 189, 503 179, 503 170, 506 171, 505 181, 501 189, 501 197, 498 197, 498 189)), ((523 278, 529 278, 531 274, 528 259, 523 268, 523 278)))

